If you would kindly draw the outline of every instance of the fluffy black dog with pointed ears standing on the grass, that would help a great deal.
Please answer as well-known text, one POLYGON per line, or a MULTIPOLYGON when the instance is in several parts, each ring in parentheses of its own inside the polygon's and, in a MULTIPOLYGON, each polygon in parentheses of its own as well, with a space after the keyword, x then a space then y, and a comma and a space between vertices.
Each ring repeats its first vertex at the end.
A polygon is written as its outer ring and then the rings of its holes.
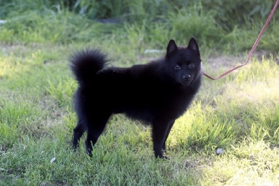
POLYGON ((201 84, 201 59, 195 38, 188 47, 167 45, 165 57, 130 68, 106 67, 106 55, 99 50, 83 50, 70 58, 70 68, 78 81, 75 110, 78 117, 73 148, 87 130, 86 152, 114 113, 152 125, 153 150, 165 158, 163 150, 174 121, 186 111, 201 84))

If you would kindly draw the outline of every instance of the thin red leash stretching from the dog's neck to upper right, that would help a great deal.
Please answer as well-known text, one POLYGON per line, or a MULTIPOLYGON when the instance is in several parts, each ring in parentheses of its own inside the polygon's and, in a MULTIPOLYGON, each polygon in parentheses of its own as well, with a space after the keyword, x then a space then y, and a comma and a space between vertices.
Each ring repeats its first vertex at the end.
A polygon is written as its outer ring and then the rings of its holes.
POLYGON ((233 69, 230 69, 229 71, 221 74, 220 76, 218 76, 217 78, 212 78, 211 76, 207 75, 206 73, 203 72, 203 75, 206 76, 207 78, 211 79, 211 80, 218 80, 220 78, 222 78, 223 76, 226 76, 228 73, 231 73, 232 71, 239 69, 241 66, 244 66, 246 64, 248 64, 249 59, 252 55, 252 53, 254 52, 255 48, 257 47, 257 44, 259 43, 259 40, 262 38, 262 34, 264 34, 264 31, 266 30, 267 26, 269 25, 269 22, 271 20, 271 17, 273 16, 273 13, 275 12, 277 6, 278 6, 279 0, 276 1, 276 4, 274 5, 273 9, 271 10, 271 13, 269 14, 269 18, 267 18, 266 23, 264 24, 264 27, 262 28, 262 31, 259 33, 259 36, 257 36, 257 40, 254 43, 254 45, 252 46, 252 49, 249 52, 249 55, 246 59, 245 64, 241 64, 239 66, 234 67, 233 69))

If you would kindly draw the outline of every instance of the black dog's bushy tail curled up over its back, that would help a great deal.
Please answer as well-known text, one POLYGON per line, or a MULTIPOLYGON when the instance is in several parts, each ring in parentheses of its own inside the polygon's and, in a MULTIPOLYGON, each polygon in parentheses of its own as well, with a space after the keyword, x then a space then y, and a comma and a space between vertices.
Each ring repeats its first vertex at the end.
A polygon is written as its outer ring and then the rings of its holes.
POLYGON ((105 67, 107 55, 98 49, 82 50, 75 52, 70 57, 70 69, 79 83, 91 81, 96 73, 105 67))

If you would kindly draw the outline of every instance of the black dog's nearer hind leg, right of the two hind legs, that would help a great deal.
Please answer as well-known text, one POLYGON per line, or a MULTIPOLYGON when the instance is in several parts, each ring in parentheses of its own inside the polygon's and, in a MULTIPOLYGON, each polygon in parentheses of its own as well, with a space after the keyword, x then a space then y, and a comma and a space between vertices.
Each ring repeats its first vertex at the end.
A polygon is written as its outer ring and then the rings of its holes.
POLYGON ((93 120, 87 124, 87 138, 85 141, 86 152, 92 157, 92 147, 98 141, 100 134, 103 133, 107 120, 110 118, 110 115, 99 115, 94 117, 93 120))

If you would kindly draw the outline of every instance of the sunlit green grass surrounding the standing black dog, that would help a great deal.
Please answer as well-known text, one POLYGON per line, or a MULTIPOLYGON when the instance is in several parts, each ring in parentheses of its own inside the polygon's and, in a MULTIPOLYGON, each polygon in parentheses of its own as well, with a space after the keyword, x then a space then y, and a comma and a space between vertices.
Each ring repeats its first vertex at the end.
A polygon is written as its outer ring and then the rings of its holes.
POLYGON ((197 33, 207 73, 217 76, 244 61, 262 22, 227 34, 202 8, 181 9, 151 26, 149 20, 100 24, 66 10, 1 10, 9 21, 0 26, 0 185, 279 185, 276 20, 257 48, 263 55, 258 50, 220 80, 204 77, 171 131, 168 161, 153 158, 150 127, 124 115, 111 118, 93 158, 84 153, 85 136, 77 152, 70 148, 77 122, 77 83, 68 68, 73 50, 100 46, 112 64, 130 66, 163 55, 144 50, 165 50, 169 37, 186 45, 197 33), (182 27, 193 10, 197 24, 182 27), (217 156, 216 148, 225 153, 217 156))

